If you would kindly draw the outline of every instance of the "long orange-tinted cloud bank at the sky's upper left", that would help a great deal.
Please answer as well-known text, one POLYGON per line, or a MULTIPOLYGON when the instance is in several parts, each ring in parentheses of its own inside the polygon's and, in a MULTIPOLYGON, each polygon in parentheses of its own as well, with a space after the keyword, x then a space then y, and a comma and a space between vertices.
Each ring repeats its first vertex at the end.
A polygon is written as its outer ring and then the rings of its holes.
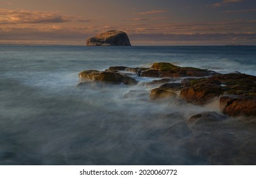
POLYGON ((62 23, 80 20, 75 16, 60 15, 58 11, 27 11, 0 9, 0 24, 62 23))

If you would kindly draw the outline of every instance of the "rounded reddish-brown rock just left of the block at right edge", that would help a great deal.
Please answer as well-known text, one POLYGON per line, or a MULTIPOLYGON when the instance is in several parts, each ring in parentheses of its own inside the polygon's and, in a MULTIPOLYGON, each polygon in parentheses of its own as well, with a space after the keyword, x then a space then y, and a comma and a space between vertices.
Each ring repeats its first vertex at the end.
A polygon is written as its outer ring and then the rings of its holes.
POLYGON ((191 79, 180 92, 181 98, 203 105, 223 93, 220 81, 215 79, 191 79))

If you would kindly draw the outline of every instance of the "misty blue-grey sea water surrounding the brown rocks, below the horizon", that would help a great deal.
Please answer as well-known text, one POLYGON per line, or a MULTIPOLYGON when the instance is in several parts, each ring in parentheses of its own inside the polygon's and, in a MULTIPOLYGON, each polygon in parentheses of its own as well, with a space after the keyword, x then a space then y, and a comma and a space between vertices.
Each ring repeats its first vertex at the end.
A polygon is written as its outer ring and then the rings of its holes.
POLYGON ((256 165, 255 125, 187 125, 193 114, 219 113, 218 99, 152 101, 153 79, 135 76, 136 86, 76 86, 85 69, 153 62, 256 75, 255 58, 255 46, 2 45, 0 164, 256 165))

